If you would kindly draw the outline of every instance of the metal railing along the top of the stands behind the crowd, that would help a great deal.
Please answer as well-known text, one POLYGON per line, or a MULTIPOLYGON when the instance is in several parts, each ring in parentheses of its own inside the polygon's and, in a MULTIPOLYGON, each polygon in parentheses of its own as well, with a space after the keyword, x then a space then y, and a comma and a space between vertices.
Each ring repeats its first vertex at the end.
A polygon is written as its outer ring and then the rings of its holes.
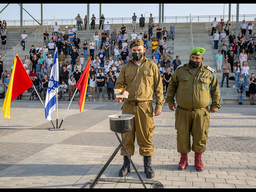
MULTIPOLYGON (((189 23, 190 18, 191 22, 212 22, 214 18, 217 18, 217 21, 220 21, 221 19, 224 19, 224 22, 228 20, 228 15, 212 15, 212 16, 168 16, 164 17, 164 23, 189 23)), ((250 14, 250 15, 239 15, 239 21, 242 22, 242 20, 246 21, 254 21, 256 18, 256 14, 250 14)), ((148 23, 148 18, 146 19, 146 23, 148 23)), ((84 20, 84 18, 83 18, 84 20)), ((99 18, 96 18, 95 23, 99 24, 99 18)), ((139 23, 140 18, 136 19, 136 22, 139 23)), ((52 17, 51 19, 46 19, 44 22, 51 23, 51 26, 55 24, 55 22, 58 22, 58 25, 76 25, 75 19, 56 19, 55 17, 52 17)), ((109 24, 132 24, 132 18, 105 18, 105 24, 109 22, 109 24)), ((154 23, 158 23, 159 18, 154 17, 154 23)), ((236 22, 236 15, 230 16, 230 22, 236 22)), ((20 20, 6 20, 6 23, 8 26, 20 26, 20 20)), ((35 22, 34 20, 23 20, 23 26, 38 26, 39 24, 35 22)))

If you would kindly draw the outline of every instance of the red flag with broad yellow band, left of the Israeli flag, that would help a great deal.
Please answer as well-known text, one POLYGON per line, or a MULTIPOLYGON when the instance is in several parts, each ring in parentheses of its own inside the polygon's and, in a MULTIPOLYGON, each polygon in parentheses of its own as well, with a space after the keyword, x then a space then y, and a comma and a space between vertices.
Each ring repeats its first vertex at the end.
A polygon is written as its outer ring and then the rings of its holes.
POLYGON ((11 119, 11 102, 32 86, 33 83, 29 78, 18 54, 16 54, 10 82, 4 99, 4 104, 2 106, 2 110, 4 110, 4 117, 11 119))

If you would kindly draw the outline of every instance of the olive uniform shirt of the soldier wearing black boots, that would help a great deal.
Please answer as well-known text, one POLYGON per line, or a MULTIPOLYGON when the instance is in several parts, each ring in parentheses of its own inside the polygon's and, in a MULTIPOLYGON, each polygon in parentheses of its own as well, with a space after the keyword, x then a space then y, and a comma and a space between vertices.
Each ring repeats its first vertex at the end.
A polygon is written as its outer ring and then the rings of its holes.
POLYGON ((152 101, 156 96, 156 108, 162 110, 164 104, 163 85, 157 65, 149 61, 145 56, 138 66, 134 59, 130 60, 123 67, 116 80, 116 88, 126 85, 129 92, 127 101, 152 101))

